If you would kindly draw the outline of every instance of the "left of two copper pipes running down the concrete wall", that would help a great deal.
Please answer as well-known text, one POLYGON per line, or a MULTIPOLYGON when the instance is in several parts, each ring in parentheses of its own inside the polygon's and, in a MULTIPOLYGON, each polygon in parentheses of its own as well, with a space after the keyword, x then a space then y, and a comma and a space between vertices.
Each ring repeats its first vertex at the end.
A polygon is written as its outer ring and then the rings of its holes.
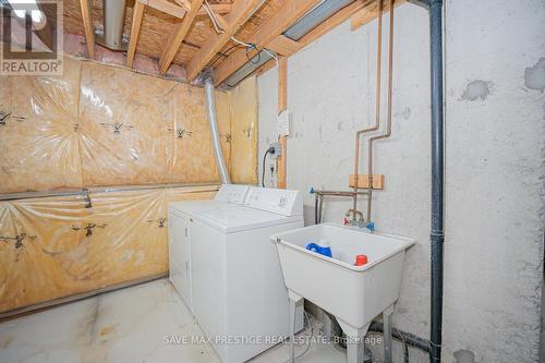
MULTIPOLYGON (((371 128, 362 129, 355 133, 355 155, 354 155, 354 192, 358 191, 358 178, 360 173, 360 138, 361 135, 367 132, 372 132, 378 130, 380 126, 380 65, 382 65, 382 56, 383 56, 383 0, 378 0, 378 32, 377 32, 377 70, 376 70, 376 117, 375 124, 371 128)), ((372 190, 373 190, 373 180, 370 174, 370 187, 368 187, 368 196, 367 196, 367 209, 370 206, 370 201, 372 198, 372 190)), ((358 194, 354 194, 353 197, 353 210, 358 210, 358 194)), ((367 211, 367 221, 371 218, 371 213, 367 211)), ((352 220, 355 220, 355 214, 352 216, 352 220)))

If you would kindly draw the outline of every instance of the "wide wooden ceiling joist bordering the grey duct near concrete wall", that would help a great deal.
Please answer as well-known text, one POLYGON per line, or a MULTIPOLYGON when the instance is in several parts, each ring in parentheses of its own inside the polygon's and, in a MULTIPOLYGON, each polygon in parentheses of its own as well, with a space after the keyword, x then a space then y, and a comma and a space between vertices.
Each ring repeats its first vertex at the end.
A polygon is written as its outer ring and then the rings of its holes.
MULTIPOLYGON (((319 3, 317 0, 290 0, 274 14, 265 24, 259 26, 259 29, 249 39, 249 43, 255 44, 257 48, 266 48, 269 44, 279 37, 290 25, 295 23, 314 5, 319 3)), ((279 41, 282 41, 281 39, 279 41)), ((286 43, 286 41, 284 41, 286 43)), ((229 75, 247 61, 246 49, 240 49, 232 52, 229 58, 223 60, 215 70, 216 84, 220 84, 229 75)))

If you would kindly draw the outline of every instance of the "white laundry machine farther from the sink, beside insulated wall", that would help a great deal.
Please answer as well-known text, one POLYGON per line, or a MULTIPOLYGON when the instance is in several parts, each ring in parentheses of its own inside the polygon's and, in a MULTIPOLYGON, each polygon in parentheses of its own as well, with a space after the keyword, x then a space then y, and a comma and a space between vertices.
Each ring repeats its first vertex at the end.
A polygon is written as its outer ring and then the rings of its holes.
POLYGON ((250 186, 223 184, 214 199, 186 201, 169 204, 169 279, 185 304, 193 311, 191 292, 192 215, 197 210, 216 209, 226 205, 242 205, 250 186))

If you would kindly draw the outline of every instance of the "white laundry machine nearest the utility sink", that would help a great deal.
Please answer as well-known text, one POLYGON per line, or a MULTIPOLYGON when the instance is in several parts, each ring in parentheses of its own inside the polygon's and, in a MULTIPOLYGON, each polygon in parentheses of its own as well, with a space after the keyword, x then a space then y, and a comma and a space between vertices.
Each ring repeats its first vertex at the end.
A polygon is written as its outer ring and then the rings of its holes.
MULTIPOLYGON (((290 334, 290 305, 274 233, 303 227, 296 191, 251 187, 243 206, 192 214, 193 313, 223 363, 241 363, 290 334)), ((303 306, 296 311, 303 325, 303 306)))

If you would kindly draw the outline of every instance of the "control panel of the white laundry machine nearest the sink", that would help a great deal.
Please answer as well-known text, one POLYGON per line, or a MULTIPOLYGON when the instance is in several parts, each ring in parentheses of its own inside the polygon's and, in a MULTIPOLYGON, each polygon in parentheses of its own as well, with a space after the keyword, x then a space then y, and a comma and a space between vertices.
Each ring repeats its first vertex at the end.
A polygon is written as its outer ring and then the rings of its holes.
POLYGON ((303 201, 299 191, 283 189, 251 187, 244 206, 283 216, 303 214, 303 201))

